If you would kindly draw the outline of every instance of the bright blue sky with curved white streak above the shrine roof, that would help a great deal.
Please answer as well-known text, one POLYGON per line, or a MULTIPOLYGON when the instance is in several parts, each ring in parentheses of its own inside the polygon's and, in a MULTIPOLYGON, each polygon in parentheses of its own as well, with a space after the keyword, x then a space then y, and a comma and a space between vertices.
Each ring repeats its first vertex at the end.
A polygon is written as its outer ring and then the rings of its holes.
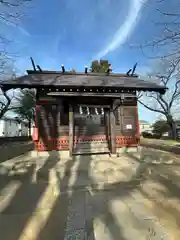
MULTIPOLYGON (((169 9, 169 1, 157 0, 32 0, 15 24, 0 21, 11 39, 8 51, 15 57, 19 74, 32 69, 30 56, 46 70, 83 71, 94 59, 108 59, 113 72, 126 72, 136 62, 137 74, 151 69, 152 41, 161 29, 157 8, 169 9), (159 1, 161 2, 161 1, 159 1)), ((172 0, 172 2, 177 0, 172 0)), ((157 115, 139 106, 139 118, 152 122, 157 115)))

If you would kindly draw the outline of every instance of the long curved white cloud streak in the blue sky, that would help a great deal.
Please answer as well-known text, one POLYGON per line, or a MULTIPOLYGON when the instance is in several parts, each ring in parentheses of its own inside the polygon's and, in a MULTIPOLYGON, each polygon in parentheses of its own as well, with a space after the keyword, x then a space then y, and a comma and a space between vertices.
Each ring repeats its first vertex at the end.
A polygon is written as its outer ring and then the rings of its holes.
POLYGON ((124 23, 117 30, 111 42, 102 49, 94 59, 104 57, 107 53, 114 51, 126 42, 138 22, 142 7, 146 1, 147 0, 131 0, 129 12, 124 23))

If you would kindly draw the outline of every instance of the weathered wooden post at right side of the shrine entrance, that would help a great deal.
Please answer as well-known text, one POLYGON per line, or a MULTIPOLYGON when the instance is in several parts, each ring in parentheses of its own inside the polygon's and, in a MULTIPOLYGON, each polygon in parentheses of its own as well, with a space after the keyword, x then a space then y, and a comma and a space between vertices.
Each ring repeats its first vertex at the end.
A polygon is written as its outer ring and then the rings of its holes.
POLYGON ((112 154, 116 154, 116 133, 115 133, 115 117, 113 112, 114 104, 110 106, 110 151, 112 154))

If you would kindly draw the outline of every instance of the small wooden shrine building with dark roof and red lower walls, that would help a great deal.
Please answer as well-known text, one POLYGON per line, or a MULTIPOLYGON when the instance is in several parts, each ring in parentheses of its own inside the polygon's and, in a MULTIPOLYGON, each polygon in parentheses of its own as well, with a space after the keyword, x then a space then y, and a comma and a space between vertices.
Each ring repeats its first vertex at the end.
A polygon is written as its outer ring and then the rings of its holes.
POLYGON ((36 89, 33 141, 42 151, 116 154, 139 144, 137 92, 166 89, 137 75, 28 70, 3 81, 7 91, 36 89))

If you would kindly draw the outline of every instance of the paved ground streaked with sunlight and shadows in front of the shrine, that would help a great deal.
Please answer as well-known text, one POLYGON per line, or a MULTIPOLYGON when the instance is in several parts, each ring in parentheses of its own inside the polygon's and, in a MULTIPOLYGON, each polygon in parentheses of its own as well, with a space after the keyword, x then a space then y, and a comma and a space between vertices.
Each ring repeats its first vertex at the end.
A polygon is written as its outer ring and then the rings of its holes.
MULTIPOLYGON (((156 169, 169 160, 163 154, 153 157, 160 159, 156 169)), ((152 152, 144 156, 152 157, 152 152)), ((178 162, 176 156, 169 158, 178 162)), ((180 239, 174 225, 168 228, 167 216, 154 211, 150 200, 156 199, 157 190, 162 200, 165 190, 162 183, 155 184, 154 165, 148 164, 138 154, 69 160, 56 153, 48 159, 24 156, 1 164, 1 239, 180 239)))

